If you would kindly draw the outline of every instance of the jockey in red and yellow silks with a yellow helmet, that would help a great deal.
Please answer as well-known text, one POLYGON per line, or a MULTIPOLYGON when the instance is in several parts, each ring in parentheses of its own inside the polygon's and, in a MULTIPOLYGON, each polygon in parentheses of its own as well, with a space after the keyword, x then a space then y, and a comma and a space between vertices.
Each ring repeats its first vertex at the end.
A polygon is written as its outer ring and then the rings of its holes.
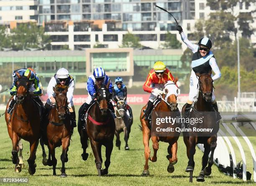
POLYGON ((146 111, 144 112, 145 120, 148 120, 148 116, 153 109, 153 102, 163 92, 161 89, 164 88, 164 82, 174 81, 174 77, 169 69, 166 68, 164 62, 157 61, 154 64, 153 69, 150 70, 146 82, 143 84, 143 90, 151 93, 147 104, 146 111), (150 87, 152 85, 152 87, 150 87))

